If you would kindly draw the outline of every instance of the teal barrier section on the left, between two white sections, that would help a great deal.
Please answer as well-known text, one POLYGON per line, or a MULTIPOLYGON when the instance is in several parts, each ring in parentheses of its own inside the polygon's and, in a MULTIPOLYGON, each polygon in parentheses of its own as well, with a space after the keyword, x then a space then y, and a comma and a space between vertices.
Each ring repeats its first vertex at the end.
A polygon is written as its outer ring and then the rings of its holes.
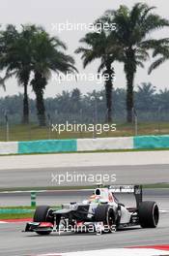
POLYGON ((77 151, 77 140, 18 142, 18 154, 77 151))

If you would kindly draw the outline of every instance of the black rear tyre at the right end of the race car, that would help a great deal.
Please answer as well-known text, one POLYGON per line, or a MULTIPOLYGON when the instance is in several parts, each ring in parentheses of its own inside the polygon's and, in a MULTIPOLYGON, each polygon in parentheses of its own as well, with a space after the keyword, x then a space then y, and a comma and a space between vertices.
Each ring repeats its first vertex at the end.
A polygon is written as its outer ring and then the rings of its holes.
POLYGON ((142 202, 138 208, 139 222, 142 228, 155 228, 159 220, 159 209, 155 202, 142 202))

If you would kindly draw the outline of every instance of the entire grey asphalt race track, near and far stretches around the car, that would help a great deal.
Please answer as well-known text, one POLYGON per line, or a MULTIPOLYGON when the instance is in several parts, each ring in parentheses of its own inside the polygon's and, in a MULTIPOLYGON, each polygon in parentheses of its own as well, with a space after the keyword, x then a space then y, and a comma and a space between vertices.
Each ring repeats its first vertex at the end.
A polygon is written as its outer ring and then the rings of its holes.
MULTIPOLYGON (((83 172, 98 174, 106 172, 117 175, 117 183, 156 183, 169 182, 169 165, 118 166, 118 167, 80 167, 58 169, 1 170, 0 187, 29 187, 51 185, 51 173, 83 172)), ((55 184, 56 185, 56 184, 55 184)), ((38 205, 58 205, 85 199, 91 191, 51 191, 37 195, 38 205)), ((128 195, 120 200, 126 206, 134 201, 128 195)), ((36 256, 41 253, 57 253, 87 249, 128 247, 146 244, 169 243, 169 190, 147 189, 144 200, 155 201, 161 210, 160 221, 156 229, 129 228, 115 234, 96 236, 95 234, 51 234, 41 237, 32 233, 22 233, 25 223, 0 223, 0 256, 36 256)), ((29 205, 30 193, 0 193, 0 206, 29 205)), ((132 204, 132 205, 131 205, 132 204)))

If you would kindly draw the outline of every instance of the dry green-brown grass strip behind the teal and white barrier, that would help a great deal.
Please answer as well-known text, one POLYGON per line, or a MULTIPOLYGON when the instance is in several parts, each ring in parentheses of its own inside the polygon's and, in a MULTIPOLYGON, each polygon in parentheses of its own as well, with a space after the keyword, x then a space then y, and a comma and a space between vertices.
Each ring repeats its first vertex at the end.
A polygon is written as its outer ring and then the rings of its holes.
MULTIPOLYGON (((135 135, 134 124, 116 124, 117 130, 112 132, 102 132, 97 134, 96 138, 104 137, 127 137, 135 135)), ((161 123, 138 123, 137 135, 164 135, 169 134, 169 122, 161 123)), ((9 125, 9 135, 5 125, 0 125, 0 141, 34 141, 34 140, 58 140, 58 139, 78 139, 93 138, 93 132, 61 132, 51 131, 49 127, 39 127, 35 124, 9 125)))

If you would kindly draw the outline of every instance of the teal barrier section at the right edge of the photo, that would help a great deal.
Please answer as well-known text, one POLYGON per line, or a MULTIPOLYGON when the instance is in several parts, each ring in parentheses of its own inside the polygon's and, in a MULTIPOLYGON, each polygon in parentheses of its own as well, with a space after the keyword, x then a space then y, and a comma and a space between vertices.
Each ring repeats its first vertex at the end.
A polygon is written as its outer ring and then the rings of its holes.
POLYGON ((134 148, 169 148, 169 135, 136 136, 133 144, 134 148))

